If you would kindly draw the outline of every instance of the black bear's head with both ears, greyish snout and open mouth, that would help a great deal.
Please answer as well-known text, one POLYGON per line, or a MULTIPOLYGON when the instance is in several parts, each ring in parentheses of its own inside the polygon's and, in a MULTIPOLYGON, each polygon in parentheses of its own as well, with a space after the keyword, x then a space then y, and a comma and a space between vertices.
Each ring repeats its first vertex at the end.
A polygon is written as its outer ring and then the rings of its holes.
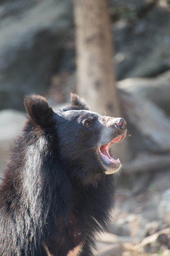
POLYGON ((102 174, 119 170, 121 162, 110 156, 109 146, 126 136, 123 118, 91 112, 84 99, 76 94, 71 94, 71 106, 56 112, 39 95, 27 96, 24 105, 36 136, 50 133, 53 143, 49 146, 57 151, 56 172, 60 166, 71 180, 93 184, 102 174))

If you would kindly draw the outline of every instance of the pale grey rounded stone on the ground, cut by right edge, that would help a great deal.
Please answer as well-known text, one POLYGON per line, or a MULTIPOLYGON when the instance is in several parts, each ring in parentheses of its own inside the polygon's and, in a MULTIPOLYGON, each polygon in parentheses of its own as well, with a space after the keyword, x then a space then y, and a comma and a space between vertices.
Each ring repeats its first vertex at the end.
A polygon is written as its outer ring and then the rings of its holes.
POLYGON ((167 189, 160 199, 158 205, 158 216, 164 223, 170 225, 170 189, 167 189))

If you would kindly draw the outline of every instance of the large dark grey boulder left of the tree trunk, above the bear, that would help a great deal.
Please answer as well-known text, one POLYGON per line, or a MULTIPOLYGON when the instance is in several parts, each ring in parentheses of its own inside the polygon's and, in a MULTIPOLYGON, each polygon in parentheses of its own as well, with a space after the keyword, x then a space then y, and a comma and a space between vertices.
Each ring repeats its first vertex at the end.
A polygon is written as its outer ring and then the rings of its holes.
POLYGON ((23 109, 23 95, 42 93, 71 26, 69 0, 0 4, 0 109, 23 109))

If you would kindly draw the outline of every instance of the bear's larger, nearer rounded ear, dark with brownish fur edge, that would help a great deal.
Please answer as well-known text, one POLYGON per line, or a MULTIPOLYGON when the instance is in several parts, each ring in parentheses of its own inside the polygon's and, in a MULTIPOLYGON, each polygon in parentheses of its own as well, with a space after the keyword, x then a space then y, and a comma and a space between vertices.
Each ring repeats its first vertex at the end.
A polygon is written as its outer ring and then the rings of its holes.
POLYGON ((54 124, 53 110, 46 99, 40 95, 32 94, 24 98, 24 106, 33 123, 42 127, 54 124))

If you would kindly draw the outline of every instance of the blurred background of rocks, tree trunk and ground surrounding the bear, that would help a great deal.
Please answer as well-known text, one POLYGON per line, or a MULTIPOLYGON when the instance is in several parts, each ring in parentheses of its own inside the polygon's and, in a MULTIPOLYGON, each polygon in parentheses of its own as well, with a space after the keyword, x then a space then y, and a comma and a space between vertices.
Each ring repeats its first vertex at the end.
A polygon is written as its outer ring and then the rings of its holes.
POLYGON ((170 1, 1 0, 1 171, 24 95, 58 108, 70 92, 127 121, 112 150, 123 163, 113 223, 96 255, 170 256, 170 1))

